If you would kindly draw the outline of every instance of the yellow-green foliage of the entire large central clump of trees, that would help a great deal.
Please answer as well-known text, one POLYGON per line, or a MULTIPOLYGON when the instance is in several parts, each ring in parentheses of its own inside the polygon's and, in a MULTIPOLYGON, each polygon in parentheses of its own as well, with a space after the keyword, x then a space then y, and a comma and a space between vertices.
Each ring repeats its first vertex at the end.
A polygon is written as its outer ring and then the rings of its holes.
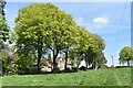
POLYGON ((70 14, 51 3, 32 3, 20 9, 14 30, 20 64, 31 65, 38 58, 39 66, 48 50, 53 54, 53 69, 57 68, 55 59, 60 52, 65 53, 65 62, 71 56, 69 52, 75 53, 72 58, 76 59, 78 65, 83 58, 88 63, 92 63, 93 58, 95 62, 105 59, 102 52, 105 44, 101 36, 78 26, 70 14))

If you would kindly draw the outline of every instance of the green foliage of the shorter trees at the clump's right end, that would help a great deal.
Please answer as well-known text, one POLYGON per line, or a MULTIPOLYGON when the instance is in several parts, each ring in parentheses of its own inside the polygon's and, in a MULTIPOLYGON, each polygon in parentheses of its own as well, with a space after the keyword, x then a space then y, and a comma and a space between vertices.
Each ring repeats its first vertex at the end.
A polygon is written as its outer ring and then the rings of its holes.
POLYGON ((94 68, 106 63, 104 53, 104 41, 101 36, 92 34, 85 30, 85 28, 79 26, 78 43, 70 51, 70 58, 76 58, 76 63, 80 64, 82 59, 85 59, 86 67, 93 64, 94 68))

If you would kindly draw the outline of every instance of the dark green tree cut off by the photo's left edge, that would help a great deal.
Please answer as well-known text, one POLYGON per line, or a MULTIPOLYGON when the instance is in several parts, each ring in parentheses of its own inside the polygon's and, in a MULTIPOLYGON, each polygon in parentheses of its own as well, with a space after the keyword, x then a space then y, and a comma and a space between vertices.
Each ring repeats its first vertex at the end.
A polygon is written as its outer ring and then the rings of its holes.
MULTIPOLYGON (((6 21, 6 15, 4 15, 4 10, 3 10, 4 7, 6 7, 6 1, 0 0, 0 64, 2 65, 0 67, 3 69, 4 69, 4 67, 8 67, 6 65, 9 65, 9 63, 6 63, 6 62, 8 62, 7 56, 9 59, 11 59, 9 53, 3 52, 3 51, 6 51, 4 43, 7 42, 7 40, 9 40, 9 26, 6 21)), ((7 48, 9 48, 9 47, 7 47, 7 48)), ((4 73, 4 70, 3 70, 3 73, 4 73)), ((0 70, 0 74, 1 74, 1 70, 0 70)))

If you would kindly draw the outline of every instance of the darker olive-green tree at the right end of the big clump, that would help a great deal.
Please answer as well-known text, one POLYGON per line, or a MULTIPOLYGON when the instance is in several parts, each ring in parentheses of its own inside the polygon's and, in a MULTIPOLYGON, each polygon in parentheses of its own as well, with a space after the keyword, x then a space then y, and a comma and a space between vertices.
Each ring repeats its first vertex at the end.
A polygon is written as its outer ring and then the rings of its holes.
POLYGON ((86 67, 92 64, 92 68, 95 68, 98 65, 105 64, 106 59, 104 53, 102 52, 105 48, 103 38, 100 35, 91 34, 93 42, 85 52, 85 64, 86 67))

